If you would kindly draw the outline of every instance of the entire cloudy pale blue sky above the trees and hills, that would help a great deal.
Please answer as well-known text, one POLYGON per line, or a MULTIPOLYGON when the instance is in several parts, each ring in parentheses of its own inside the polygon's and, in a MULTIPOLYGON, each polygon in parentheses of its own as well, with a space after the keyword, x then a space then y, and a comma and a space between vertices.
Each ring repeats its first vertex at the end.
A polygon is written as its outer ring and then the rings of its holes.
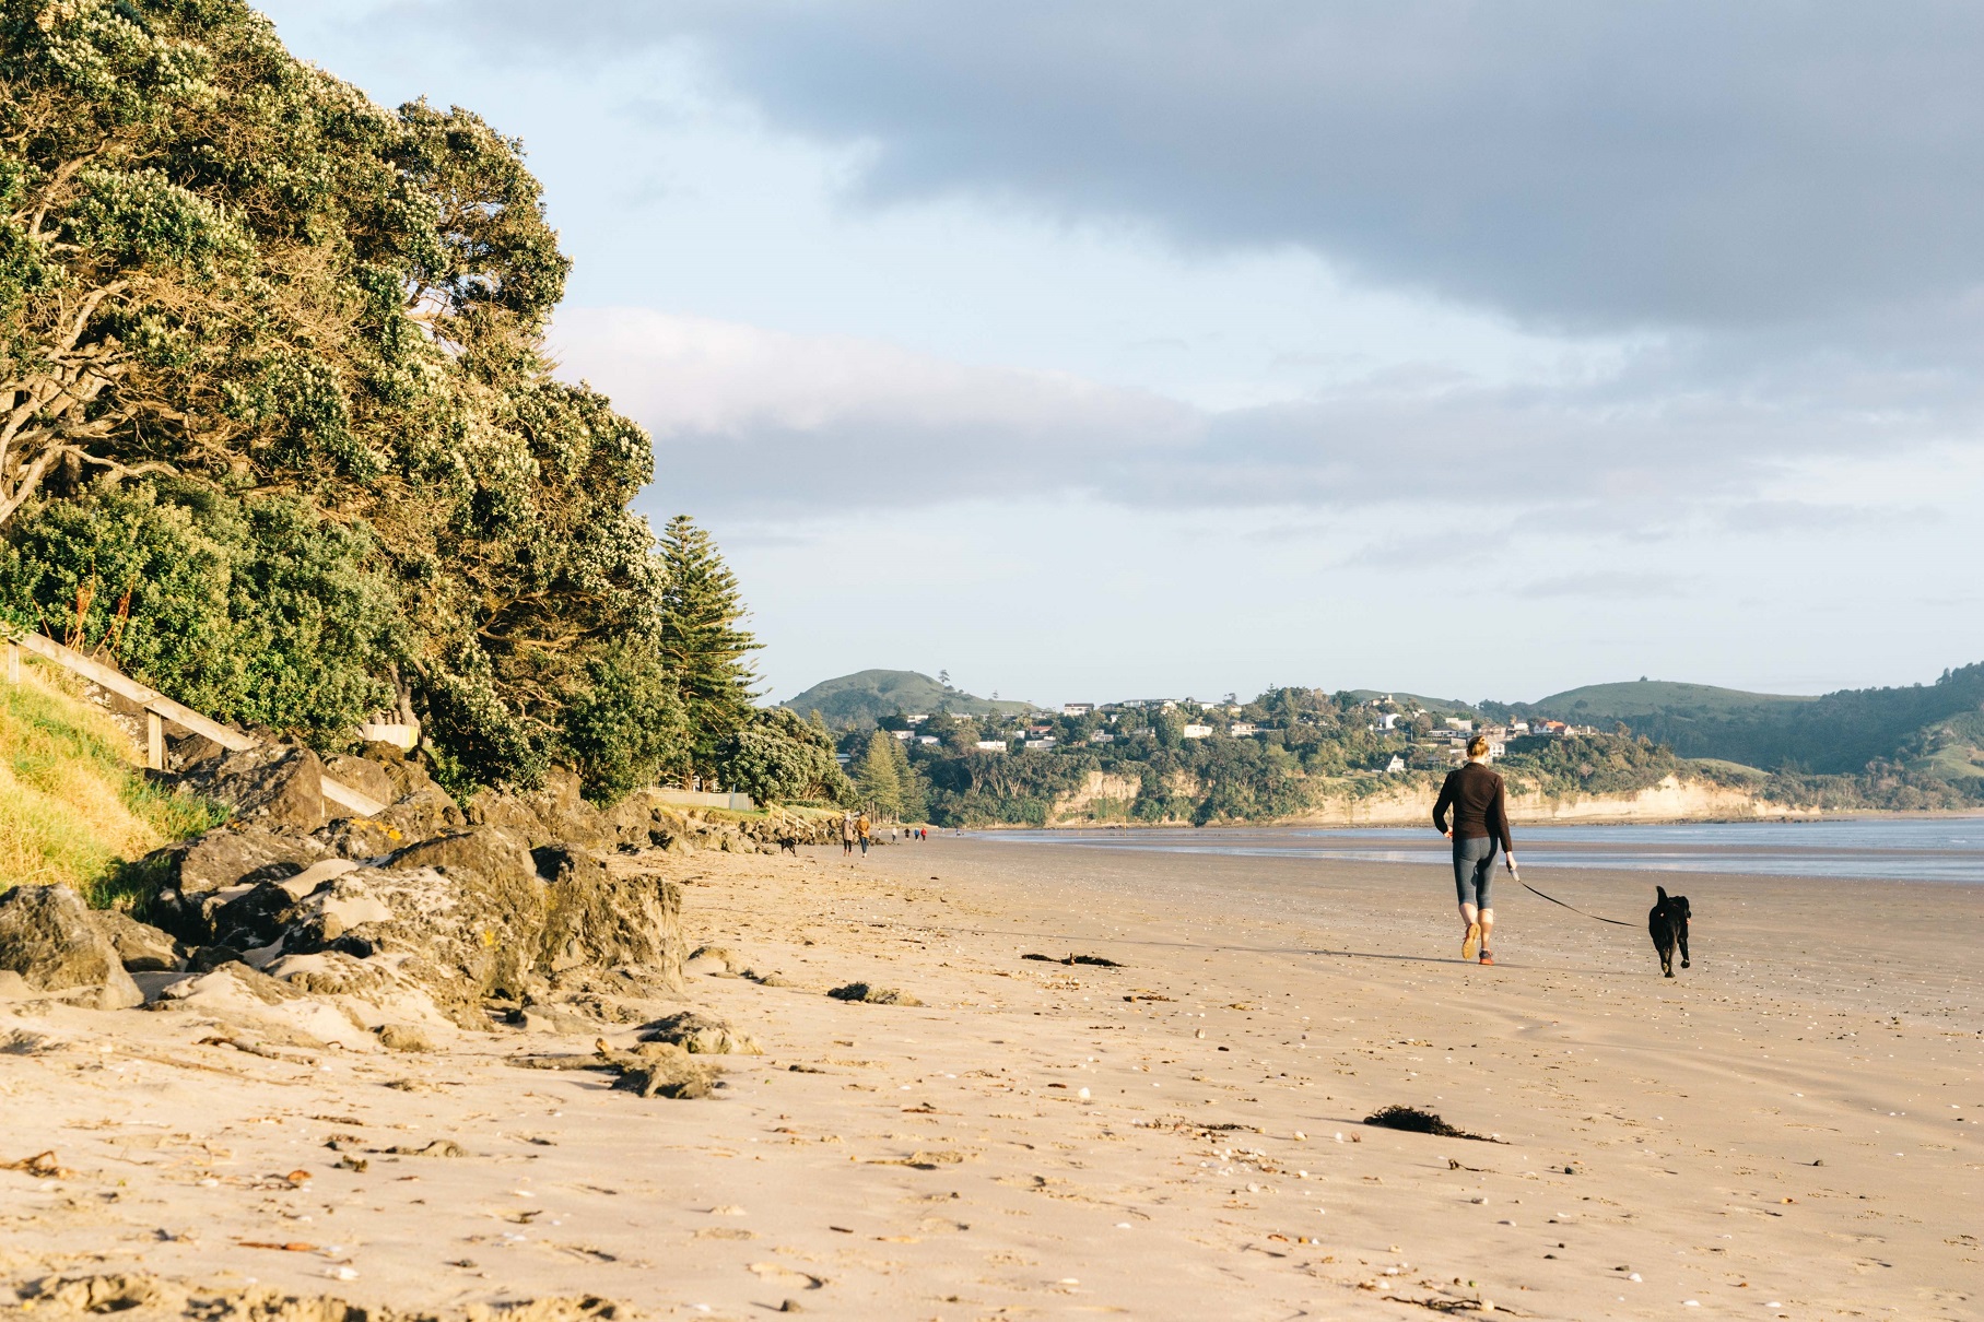
POLYGON ((260 8, 524 143, 770 698, 1984 660, 1984 8, 260 8))

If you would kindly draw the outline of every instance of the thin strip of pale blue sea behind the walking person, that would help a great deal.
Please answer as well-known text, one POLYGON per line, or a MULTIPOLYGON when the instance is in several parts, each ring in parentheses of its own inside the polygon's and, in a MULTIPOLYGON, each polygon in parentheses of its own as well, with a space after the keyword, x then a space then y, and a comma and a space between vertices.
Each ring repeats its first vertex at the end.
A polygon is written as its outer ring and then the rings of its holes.
MULTIPOLYGON (((1260 858, 1428 864, 1448 856, 1432 826, 986 830, 982 840, 1260 858)), ((1520 826, 1524 872, 1728 872, 1984 886, 1984 817, 1841 817, 1798 823, 1520 826)))

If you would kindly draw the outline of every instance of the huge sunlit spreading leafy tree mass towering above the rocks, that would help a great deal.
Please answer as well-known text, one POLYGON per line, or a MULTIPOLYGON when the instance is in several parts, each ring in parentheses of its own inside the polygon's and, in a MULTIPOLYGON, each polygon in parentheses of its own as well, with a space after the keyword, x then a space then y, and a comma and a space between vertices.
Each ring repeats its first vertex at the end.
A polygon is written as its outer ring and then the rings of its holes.
POLYGON ((518 143, 373 105, 240 0, 0 0, 0 610, 169 692, 333 652, 351 682, 256 717, 331 741, 397 688, 462 785, 611 797, 720 741, 742 654, 669 642, 649 440, 550 373, 567 262, 518 143), (89 559, 113 525, 163 541, 89 559), (179 543, 242 577, 133 569, 179 543))

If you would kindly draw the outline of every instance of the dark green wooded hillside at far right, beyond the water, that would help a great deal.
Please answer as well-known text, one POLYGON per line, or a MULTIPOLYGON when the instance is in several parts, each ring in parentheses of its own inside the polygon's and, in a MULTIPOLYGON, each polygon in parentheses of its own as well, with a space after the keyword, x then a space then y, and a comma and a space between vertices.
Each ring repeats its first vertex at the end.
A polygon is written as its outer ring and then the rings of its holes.
POLYGON ((1980 708, 1984 662, 1944 672, 1934 684, 1821 698, 1641 680, 1573 688, 1514 710, 1575 723, 1621 721, 1682 757, 1843 775, 1881 759, 1950 779, 1984 777, 1980 708))

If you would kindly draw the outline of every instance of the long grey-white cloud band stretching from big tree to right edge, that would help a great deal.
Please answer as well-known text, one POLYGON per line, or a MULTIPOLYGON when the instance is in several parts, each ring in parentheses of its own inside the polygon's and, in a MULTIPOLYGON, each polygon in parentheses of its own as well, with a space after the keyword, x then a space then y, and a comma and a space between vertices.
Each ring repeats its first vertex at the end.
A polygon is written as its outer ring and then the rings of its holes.
POLYGON ((1591 379, 1393 369, 1214 412, 1065 373, 649 309, 565 309, 554 347, 567 377, 593 381, 651 430, 661 490, 732 509, 1093 496, 1502 521, 1550 511, 1559 533, 1661 531, 1714 509, 1790 527, 1796 501, 1766 497, 1776 478, 1827 456, 1924 450, 1952 418, 1974 428, 1984 416, 1976 388, 1869 416, 1851 406, 1865 381, 1817 369, 1696 390, 1692 359, 1669 349, 1591 379))

